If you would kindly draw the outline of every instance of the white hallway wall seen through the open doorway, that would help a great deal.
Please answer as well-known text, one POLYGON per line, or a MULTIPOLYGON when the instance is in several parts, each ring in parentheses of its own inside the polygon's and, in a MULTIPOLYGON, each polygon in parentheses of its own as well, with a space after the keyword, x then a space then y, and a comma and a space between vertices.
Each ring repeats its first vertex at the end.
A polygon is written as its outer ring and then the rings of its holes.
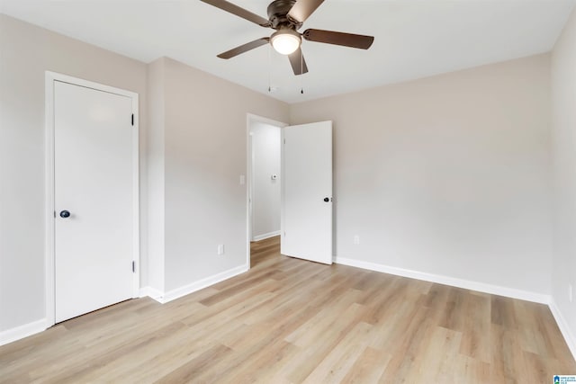
POLYGON ((252 238, 259 240, 280 231, 281 129, 253 122, 252 138, 252 238), (276 175, 276 179, 272 176, 276 175))

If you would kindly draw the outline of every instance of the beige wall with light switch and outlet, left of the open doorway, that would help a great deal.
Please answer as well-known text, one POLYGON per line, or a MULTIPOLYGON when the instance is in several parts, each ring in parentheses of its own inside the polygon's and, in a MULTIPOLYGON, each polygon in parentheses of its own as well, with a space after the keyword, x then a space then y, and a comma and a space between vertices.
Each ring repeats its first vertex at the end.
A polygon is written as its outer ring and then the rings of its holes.
POLYGON ((247 266, 247 113, 287 121, 289 106, 169 58, 164 76, 170 291, 247 266))

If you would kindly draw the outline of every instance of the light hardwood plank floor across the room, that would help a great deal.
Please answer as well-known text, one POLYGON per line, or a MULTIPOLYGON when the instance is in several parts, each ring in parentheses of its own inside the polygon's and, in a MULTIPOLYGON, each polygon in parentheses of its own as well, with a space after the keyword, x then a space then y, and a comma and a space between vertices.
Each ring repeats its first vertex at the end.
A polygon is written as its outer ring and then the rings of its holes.
POLYGON ((252 269, 0 347, 0 382, 552 383, 576 374, 549 309, 253 244, 252 269))

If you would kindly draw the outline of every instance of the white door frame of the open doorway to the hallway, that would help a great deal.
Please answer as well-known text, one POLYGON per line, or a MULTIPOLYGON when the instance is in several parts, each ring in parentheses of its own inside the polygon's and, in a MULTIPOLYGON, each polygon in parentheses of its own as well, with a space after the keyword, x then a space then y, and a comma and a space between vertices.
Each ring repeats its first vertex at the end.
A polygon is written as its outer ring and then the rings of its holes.
MULTIPOLYGON (((266 117, 258 116, 252 113, 246 114, 246 169, 247 169, 247 183, 246 183, 246 264, 250 268, 250 241, 252 240, 252 210, 250 209, 250 201, 252 199, 252 137, 250 136, 250 128, 255 122, 263 122, 265 124, 274 125, 280 129, 287 127, 288 124, 282 121, 275 121, 266 117)), ((282 183, 282 177, 280 177, 282 183)))

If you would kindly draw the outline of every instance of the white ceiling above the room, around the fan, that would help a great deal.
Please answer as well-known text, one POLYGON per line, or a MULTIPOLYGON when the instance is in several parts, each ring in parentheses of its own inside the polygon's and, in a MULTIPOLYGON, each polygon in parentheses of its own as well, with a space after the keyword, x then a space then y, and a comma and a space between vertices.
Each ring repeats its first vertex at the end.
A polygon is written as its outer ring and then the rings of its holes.
MULTIPOLYGON (((26 22, 146 63, 174 58, 288 103, 548 51, 575 4, 575 0, 326 0, 301 31, 374 35, 374 44, 363 50, 304 41, 310 72, 294 76, 288 59, 268 45, 229 60, 216 58, 273 30, 200 0, 0 1, 2 13, 26 22), (268 85, 273 92, 268 93, 268 85)), ((268 0, 231 2, 266 17, 268 0)))

